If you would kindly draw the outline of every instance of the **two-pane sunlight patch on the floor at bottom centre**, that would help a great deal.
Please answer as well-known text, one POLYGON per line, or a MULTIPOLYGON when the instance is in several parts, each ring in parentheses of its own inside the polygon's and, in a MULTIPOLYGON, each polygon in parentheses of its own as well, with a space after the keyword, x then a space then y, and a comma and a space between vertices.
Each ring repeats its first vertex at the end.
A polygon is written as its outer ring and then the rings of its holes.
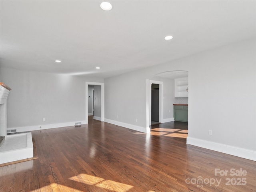
POLYGON ((128 184, 124 184, 124 183, 120 183, 112 180, 106 180, 104 178, 87 175, 87 174, 79 174, 77 176, 70 177, 69 179, 76 182, 84 183, 87 185, 94 185, 102 189, 110 190, 112 192, 119 192, 119 191, 125 192, 133 188, 133 186, 128 184))

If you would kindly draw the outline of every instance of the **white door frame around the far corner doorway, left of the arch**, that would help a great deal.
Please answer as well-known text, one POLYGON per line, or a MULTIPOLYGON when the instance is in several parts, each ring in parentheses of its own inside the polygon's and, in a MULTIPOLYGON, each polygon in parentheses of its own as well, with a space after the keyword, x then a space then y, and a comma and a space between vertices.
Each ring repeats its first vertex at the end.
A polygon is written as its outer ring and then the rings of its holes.
POLYGON ((101 87, 101 121, 104 121, 104 83, 85 82, 85 124, 88 124, 88 85, 100 85, 101 87))

